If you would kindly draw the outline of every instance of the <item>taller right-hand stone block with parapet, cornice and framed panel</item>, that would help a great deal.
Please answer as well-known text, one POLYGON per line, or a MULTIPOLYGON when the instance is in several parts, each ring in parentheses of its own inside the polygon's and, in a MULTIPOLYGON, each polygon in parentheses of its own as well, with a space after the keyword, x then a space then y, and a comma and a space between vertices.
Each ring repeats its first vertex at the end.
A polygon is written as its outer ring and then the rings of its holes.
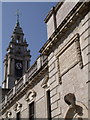
MULTIPOLYGON (((71 118, 73 110, 69 113, 70 108, 64 101, 68 93, 75 94, 76 104, 83 109, 81 117, 89 117, 89 5, 90 2, 59 3, 54 10, 55 31, 53 27, 51 29, 51 24, 49 26, 49 22, 54 24, 52 10, 45 19, 48 41, 40 52, 48 55, 52 118, 71 118)), ((73 118, 80 117, 76 114, 73 118)))

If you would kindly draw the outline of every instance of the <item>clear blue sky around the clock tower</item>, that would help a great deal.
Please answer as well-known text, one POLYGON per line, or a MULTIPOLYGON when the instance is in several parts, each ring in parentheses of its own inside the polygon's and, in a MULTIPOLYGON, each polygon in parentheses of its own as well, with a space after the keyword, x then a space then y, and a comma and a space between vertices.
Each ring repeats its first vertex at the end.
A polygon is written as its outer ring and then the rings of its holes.
MULTIPOLYGON (((2 63, 16 24, 16 11, 20 11, 20 25, 31 50, 31 65, 39 56, 39 50, 47 41, 47 27, 44 19, 56 2, 2 2, 2 63)), ((0 4, 1 8, 1 4, 0 4)), ((1 15, 0 15, 1 16, 1 15)), ((3 79, 3 64, 2 68, 3 79)), ((0 84, 1 84, 0 80, 0 84)))

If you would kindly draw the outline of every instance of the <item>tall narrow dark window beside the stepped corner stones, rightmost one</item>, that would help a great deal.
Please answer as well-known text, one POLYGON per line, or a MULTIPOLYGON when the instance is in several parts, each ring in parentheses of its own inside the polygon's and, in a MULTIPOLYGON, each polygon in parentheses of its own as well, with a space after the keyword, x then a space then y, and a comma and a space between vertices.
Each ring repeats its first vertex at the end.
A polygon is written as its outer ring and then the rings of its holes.
POLYGON ((47 114, 48 114, 48 119, 51 120, 50 90, 47 91, 47 114))

